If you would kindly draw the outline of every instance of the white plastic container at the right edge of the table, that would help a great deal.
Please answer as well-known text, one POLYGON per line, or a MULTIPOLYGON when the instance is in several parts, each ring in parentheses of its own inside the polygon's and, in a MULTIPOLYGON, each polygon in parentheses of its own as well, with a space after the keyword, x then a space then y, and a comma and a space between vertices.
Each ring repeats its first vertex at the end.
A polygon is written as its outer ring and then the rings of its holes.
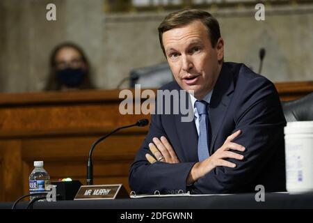
POLYGON ((287 123, 284 142, 287 191, 313 192, 313 121, 287 123))

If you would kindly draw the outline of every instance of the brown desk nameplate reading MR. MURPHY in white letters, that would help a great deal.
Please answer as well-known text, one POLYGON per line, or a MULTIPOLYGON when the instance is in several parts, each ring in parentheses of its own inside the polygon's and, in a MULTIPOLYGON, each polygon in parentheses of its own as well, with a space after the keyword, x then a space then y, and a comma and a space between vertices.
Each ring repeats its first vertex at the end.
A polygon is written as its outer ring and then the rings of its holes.
POLYGON ((79 188, 74 200, 120 199, 129 198, 122 184, 85 185, 79 188))

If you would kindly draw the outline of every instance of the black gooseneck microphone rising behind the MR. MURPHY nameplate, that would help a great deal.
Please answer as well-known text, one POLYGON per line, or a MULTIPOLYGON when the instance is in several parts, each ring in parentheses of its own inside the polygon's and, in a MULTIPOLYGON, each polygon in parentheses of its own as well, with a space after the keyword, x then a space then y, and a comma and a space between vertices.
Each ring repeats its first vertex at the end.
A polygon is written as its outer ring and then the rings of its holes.
POLYGON ((93 150, 95 149, 95 146, 97 146, 97 144, 99 144, 100 141, 106 139, 106 137, 109 137, 111 134, 118 132, 118 130, 122 130, 123 128, 131 128, 134 126, 139 126, 139 127, 143 127, 145 125, 149 124, 149 120, 147 120, 146 118, 140 119, 138 120, 136 123, 132 124, 132 125, 125 125, 122 126, 120 128, 115 129, 113 132, 110 132, 106 135, 104 135, 103 137, 100 137, 99 139, 97 139, 93 145, 90 148, 89 151, 89 155, 88 155, 88 162, 87 162, 87 185, 93 185, 93 150))

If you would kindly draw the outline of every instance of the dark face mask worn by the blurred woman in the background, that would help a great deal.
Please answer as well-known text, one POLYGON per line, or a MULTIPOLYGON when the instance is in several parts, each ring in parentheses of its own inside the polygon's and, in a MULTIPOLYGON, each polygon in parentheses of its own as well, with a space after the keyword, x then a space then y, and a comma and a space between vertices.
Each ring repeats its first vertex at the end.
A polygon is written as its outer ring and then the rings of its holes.
POLYGON ((57 70, 58 81, 67 87, 77 87, 83 82, 86 72, 82 68, 65 68, 57 70))

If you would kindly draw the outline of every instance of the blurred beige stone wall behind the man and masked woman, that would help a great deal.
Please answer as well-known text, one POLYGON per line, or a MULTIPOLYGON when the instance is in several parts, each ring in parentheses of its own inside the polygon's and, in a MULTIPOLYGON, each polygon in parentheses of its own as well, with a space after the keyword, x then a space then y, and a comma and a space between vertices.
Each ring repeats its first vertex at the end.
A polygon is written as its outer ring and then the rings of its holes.
POLYGON ((313 1, 0 0, 0 91, 43 91, 49 56, 70 41, 86 53, 97 89, 127 87, 131 70, 166 62, 157 26, 172 10, 202 8, 220 22, 225 61, 259 69, 272 82, 312 80, 313 1), (255 20, 256 3, 265 20, 255 20), (56 21, 47 21, 48 3, 56 21))

